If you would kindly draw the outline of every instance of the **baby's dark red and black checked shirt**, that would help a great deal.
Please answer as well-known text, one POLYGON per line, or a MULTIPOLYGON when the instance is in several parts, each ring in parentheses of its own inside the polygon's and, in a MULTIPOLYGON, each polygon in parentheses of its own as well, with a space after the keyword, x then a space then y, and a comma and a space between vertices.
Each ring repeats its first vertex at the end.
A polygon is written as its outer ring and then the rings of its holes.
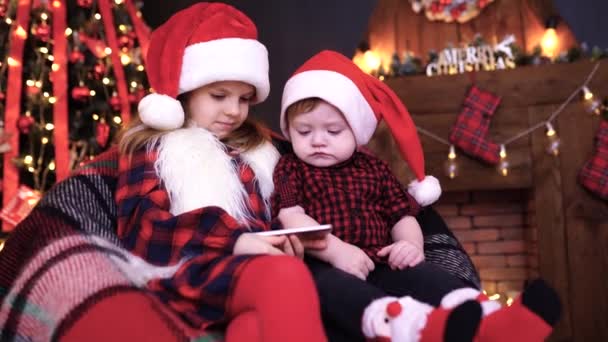
POLYGON ((363 152, 326 168, 310 166, 293 153, 284 155, 274 170, 274 184, 273 216, 299 205, 377 262, 385 262, 376 253, 393 242, 393 226, 420 208, 384 161, 363 152))

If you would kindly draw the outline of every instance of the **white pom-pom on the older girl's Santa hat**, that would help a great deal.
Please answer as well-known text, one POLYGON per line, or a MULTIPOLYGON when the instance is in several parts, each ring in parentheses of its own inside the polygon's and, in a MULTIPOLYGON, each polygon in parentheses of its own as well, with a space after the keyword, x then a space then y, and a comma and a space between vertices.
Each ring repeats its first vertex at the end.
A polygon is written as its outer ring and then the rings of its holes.
POLYGON ((182 104, 171 96, 146 95, 139 101, 137 110, 144 125, 154 129, 168 131, 184 125, 182 104))

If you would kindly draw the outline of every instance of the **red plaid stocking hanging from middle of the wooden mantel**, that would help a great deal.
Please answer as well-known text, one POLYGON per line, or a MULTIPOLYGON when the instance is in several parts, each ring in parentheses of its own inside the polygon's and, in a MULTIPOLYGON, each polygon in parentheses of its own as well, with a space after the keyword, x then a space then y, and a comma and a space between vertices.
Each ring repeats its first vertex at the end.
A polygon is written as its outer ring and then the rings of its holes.
POLYGON ((472 157, 491 165, 498 164, 500 146, 488 140, 487 135, 490 120, 499 104, 500 97, 472 86, 450 131, 450 142, 472 157))

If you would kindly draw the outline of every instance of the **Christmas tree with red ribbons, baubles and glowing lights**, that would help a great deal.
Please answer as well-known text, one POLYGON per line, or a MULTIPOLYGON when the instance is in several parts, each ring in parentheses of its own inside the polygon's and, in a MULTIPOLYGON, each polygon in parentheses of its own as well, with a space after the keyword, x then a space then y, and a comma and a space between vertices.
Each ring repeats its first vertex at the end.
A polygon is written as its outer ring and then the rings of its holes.
POLYGON ((0 0, 3 231, 106 150, 150 90, 134 0, 0 0))

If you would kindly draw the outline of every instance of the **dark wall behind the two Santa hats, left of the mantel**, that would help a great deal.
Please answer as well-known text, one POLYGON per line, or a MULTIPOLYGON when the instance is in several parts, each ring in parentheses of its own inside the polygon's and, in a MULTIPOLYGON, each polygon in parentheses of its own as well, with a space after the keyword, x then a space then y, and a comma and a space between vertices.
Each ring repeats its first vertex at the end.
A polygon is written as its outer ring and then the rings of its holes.
MULTIPOLYGON (((144 19, 157 27, 192 0, 146 0, 144 19)), ((253 115, 279 130, 283 85, 295 69, 322 49, 352 56, 367 30, 376 0, 235 0, 222 1, 246 13, 258 26, 270 58, 270 96, 253 115)))

